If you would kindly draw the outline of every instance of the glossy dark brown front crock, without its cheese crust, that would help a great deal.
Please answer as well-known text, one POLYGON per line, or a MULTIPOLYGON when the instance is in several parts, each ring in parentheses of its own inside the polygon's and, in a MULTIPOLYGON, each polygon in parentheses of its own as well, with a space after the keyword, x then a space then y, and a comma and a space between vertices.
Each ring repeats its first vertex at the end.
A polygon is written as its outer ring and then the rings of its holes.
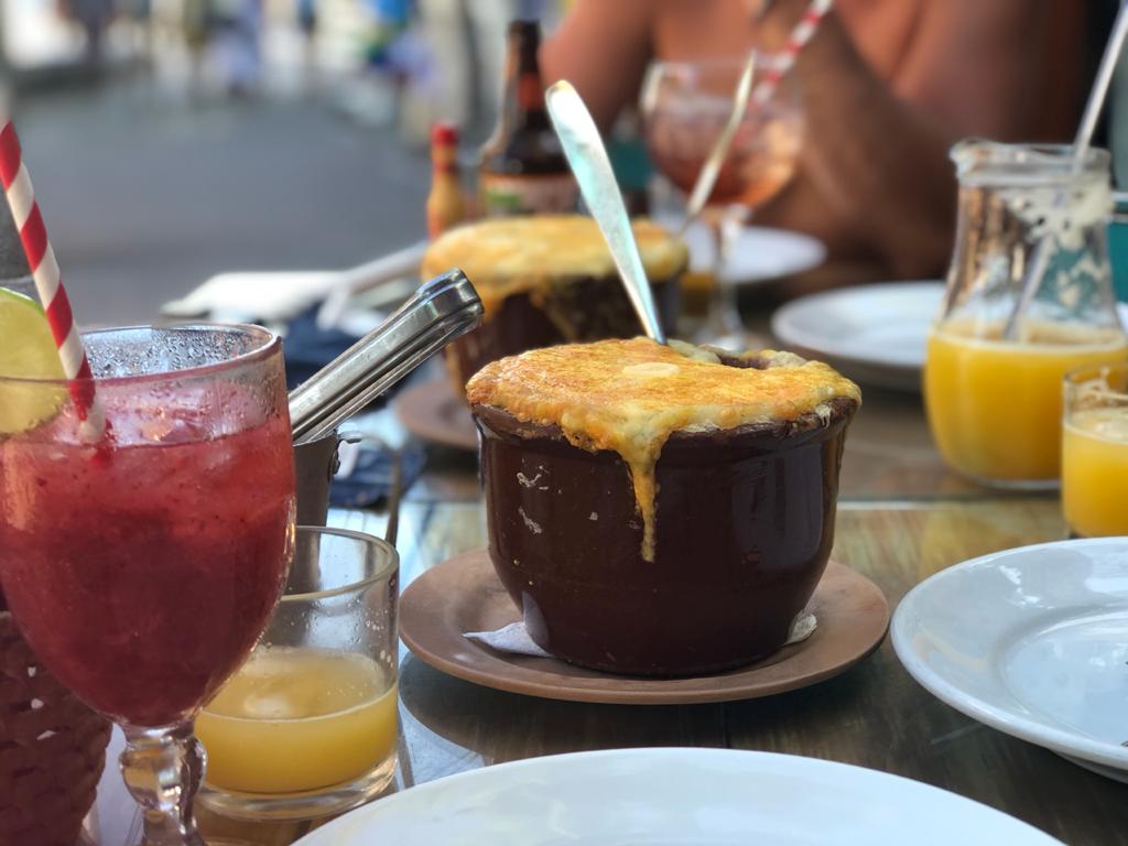
POLYGON ((782 646, 830 554, 858 407, 856 388, 826 370, 849 387, 818 408, 669 434, 650 550, 618 452, 573 446, 552 415, 472 404, 490 555, 532 640, 575 664, 645 676, 717 671, 782 646))

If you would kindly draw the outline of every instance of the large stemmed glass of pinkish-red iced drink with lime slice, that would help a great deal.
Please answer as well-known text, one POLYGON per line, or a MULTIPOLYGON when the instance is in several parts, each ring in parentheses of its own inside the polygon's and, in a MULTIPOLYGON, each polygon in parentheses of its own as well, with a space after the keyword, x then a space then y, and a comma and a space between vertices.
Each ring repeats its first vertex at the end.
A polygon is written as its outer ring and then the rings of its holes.
POLYGON ((0 584, 44 666, 124 730, 144 841, 203 846, 193 720, 250 652, 292 555, 281 342, 211 325, 83 342, 109 424, 97 443, 73 382, 0 377, 20 421, 0 432, 0 584))

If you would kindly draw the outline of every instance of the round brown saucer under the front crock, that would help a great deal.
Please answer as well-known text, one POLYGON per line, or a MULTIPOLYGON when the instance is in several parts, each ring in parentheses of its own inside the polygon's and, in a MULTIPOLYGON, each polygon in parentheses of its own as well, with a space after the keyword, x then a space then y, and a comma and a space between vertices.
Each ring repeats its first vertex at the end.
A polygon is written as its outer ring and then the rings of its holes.
POLYGON ((845 672, 885 636, 889 605, 861 573, 830 562, 810 606, 808 640, 755 664, 691 678, 652 679, 574 667, 554 658, 499 652, 464 636, 520 619, 485 549, 464 553, 413 581, 399 600, 399 636, 422 661, 485 687, 570 702, 686 705, 752 699, 845 672))

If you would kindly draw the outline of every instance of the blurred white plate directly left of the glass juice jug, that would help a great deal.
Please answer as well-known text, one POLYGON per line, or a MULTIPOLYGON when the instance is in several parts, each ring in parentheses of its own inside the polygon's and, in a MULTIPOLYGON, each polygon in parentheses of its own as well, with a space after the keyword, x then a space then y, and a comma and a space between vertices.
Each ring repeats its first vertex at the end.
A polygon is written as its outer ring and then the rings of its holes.
POLYGON ((866 385, 920 389, 928 327, 942 282, 885 282, 844 288, 788 302, 772 332, 788 350, 826 361, 866 385))

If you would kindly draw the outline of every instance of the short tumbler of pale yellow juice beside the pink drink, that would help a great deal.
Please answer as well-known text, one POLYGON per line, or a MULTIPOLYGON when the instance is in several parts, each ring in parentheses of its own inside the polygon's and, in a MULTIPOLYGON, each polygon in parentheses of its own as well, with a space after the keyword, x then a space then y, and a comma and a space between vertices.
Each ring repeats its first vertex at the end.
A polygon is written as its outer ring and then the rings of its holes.
POLYGON ((336 813, 396 767, 399 559, 384 540, 299 527, 285 592, 243 668, 196 719, 201 801, 236 819, 336 813))

